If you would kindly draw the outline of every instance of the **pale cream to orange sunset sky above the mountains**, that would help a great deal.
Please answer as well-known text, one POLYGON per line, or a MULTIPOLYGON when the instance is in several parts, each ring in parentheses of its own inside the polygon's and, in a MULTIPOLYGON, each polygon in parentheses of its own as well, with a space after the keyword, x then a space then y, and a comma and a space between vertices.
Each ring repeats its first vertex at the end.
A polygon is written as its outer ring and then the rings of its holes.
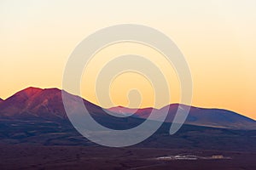
MULTIPOLYGON (((192 105, 223 108, 256 119, 256 1, 0 1, 0 98, 27 87, 61 88, 69 55, 85 37, 119 24, 150 26, 170 37, 182 51, 193 79, 192 105)), ((95 95, 101 56, 147 55, 160 65, 172 99, 180 99, 172 66, 152 48, 123 43, 104 48, 82 78, 84 99, 95 95), (86 85, 84 85, 86 84, 86 85), (86 88, 83 88, 86 86, 86 88)), ((107 62, 107 61, 104 61, 107 62)), ((154 105, 154 89, 136 73, 124 73, 110 87, 113 105, 129 105, 127 92, 140 89, 140 107, 154 105), (137 81, 131 81, 137 80, 137 81)), ((137 94, 133 98, 137 99, 137 94)), ((137 102, 135 102, 137 103, 137 102)), ((110 107, 113 105, 102 105, 110 107)), ((167 105, 157 105, 161 107, 167 105)))

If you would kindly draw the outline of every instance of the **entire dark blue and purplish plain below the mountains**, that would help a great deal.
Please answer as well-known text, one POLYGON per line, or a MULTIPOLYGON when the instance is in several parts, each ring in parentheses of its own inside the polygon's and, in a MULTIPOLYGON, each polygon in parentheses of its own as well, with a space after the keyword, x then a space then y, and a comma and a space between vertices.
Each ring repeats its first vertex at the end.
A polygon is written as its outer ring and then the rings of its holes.
MULTIPOLYGON (((129 122, 129 121, 128 121, 129 122)), ((256 169, 256 131, 170 123, 143 143, 102 147, 67 123, 9 121, 0 124, 0 169, 256 169)))

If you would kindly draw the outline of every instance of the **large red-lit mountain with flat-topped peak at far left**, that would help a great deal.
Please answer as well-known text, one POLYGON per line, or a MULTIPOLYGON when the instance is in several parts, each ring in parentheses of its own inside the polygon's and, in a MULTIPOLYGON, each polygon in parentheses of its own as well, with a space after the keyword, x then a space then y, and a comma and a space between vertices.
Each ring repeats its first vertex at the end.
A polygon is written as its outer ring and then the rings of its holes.
MULTIPOLYGON (((34 118, 44 117, 47 119, 61 118, 67 119, 66 112, 61 98, 61 90, 58 88, 26 88, 9 97, 0 103, 1 117, 34 118)), ((72 95, 73 103, 77 105, 76 100, 79 97, 72 95)), ((84 100, 85 105, 91 109, 99 108, 84 100)))

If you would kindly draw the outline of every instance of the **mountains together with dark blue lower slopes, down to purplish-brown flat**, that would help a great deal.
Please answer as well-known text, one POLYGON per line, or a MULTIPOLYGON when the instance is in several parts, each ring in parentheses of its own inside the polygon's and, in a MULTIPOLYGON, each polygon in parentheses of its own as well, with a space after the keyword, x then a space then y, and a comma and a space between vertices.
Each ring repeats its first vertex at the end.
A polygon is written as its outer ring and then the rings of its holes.
MULTIPOLYGON (((26 88, 0 101, 0 144, 88 145, 98 146, 76 131, 67 118, 61 94, 57 88, 26 88)), ((68 94, 72 100, 67 105, 76 108, 79 96, 68 94)), ((246 116, 220 109, 191 107, 189 116, 177 133, 169 130, 177 108, 188 105, 166 105, 161 109, 108 108, 108 115, 98 105, 83 99, 84 105, 96 122, 116 130, 137 127, 151 111, 157 116, 169 109, 165 122, 148 139, 134 147, 200 150, 256 150, 256 122, 246 116)), ((104 133, 104 132, 102 132, 104 133)), ((107 132, 108 133, 108 132, 107 132)))

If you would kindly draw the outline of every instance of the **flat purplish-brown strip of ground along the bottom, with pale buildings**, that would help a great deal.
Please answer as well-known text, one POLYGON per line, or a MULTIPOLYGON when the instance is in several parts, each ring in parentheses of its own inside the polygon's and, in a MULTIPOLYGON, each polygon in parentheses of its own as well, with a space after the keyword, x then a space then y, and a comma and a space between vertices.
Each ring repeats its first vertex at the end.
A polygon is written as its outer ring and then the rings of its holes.
POLYGON ((2 144, 0 160, 0 169, 256 169, 256 153, 224 150, 2 144), (159 159, 185 155, 199 158, 159 159))

